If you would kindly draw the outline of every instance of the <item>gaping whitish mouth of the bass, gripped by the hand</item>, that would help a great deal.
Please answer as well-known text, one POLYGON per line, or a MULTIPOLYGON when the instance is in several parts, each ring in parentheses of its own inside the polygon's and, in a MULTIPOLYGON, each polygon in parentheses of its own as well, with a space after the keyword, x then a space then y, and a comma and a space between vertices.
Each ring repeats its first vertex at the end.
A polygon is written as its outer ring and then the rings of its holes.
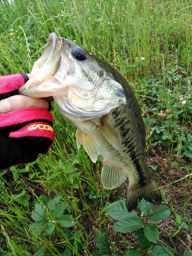
POLYGON ((66 62, 62 50, 62 38, 51 33, 44 52, 33 65, 31 74, 34 76, 19 88, 18 93, 34 98, 53 96, 61 88, 61 81, 55 77, 61 66, 62 80, 65 78, 66 62))

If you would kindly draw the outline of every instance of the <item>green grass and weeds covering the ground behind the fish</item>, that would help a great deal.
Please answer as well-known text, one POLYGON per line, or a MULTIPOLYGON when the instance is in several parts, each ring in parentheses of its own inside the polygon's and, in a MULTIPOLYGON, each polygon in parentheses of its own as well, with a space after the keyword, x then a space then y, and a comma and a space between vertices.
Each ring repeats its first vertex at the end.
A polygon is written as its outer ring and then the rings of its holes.
MULTIPOLYGON (((154 129, 146 159, 172 212, 158 223, 159 244, 173 248, 175 255, 191 250, 192 239, 191 9, 189 0, 2 0, 0 5, 1 75, 29 72, 55 32, 112 63, 129 82, 143 118, 154 129)), ((104 210, 125 198, 127 184, 105 190, 102 158, 93 164, 82 147, 77 151, 75 127, 54 104, 52 113, 56 137, 51 151, 1 172, 0 254, 102 255, 95 240, 103 235, 110 240, 110 255, 133 248, 151 254, 153 245, 143 251, 134 232, 113 230, 115 222, 104 210), (67 205, 61 215, 78 224, 61 226, 53 214, 56 206, 49 208, 44 195, 47 200, 61 195, 58 205, 67 205), (47 212, 42 223, 52 223, 45 229, 41 224, 40 232, 30 229, 37 205, 47 212)))

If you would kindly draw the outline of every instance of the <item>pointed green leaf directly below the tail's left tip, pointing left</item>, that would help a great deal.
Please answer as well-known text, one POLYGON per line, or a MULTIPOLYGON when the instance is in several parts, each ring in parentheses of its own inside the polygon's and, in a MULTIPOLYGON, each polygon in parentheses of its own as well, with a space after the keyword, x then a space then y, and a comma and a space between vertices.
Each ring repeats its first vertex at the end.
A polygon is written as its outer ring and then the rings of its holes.
POLYGON ((142 225, 144 225, 144 222, 141 219, 129 214, 129 217, 127 217, 126 219, 119 220, 114 225, 113 230, 127 233, 140 228, 142 225))

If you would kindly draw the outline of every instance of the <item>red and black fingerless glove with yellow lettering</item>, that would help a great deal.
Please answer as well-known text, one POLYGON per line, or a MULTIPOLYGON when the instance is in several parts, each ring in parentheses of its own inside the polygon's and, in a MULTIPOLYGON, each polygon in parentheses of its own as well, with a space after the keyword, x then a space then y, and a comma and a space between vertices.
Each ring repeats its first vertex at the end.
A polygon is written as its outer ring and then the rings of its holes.
MULTIPOLYGON (((25 73, 0 77, 0 99, 17 94, 28 80, 25 73)), ((53 117, 48 110, 28 108, 0 114, 0 169, 35 161, 54 142, 53 117)))

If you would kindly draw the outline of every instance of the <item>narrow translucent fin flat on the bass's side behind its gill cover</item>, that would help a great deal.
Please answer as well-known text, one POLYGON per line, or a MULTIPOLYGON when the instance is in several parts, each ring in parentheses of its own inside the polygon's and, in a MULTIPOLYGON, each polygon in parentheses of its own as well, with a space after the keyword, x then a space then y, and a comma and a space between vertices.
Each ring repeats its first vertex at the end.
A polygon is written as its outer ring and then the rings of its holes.
POLYGON ((121 156, 123 156, 123 151, 121 147, 121 141, 113 128, 107 123, 104 118, 101 118, 101 124, 98 125, 101 133, 110 142, 110 144, 119 151, 121 156))

